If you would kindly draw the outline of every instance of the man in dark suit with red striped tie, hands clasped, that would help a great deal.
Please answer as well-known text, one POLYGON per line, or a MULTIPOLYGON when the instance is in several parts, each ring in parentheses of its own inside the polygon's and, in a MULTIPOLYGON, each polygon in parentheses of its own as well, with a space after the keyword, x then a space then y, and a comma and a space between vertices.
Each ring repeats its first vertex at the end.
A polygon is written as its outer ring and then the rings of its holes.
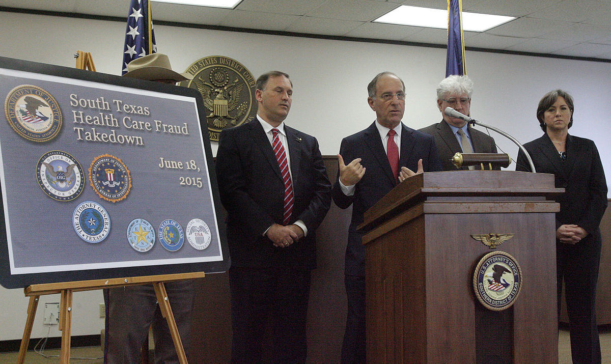
POLYGON ((331 183, 315 137, 284 123, 292 93, 286 73, 260 76, 257 120, 225 129, 219 140, 216 173, 232 259, 232 362, 304 363, 307 354, 315 230, 331 205, 331 183), (270 340, 272 357, 263 358, 270 340))

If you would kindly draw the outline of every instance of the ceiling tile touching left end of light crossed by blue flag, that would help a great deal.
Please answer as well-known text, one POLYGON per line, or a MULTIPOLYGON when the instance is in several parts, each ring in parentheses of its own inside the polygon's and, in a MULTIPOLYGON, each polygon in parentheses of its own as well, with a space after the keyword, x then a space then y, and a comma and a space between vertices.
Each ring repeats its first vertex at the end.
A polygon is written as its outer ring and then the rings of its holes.
POLYGON ((398 4, 369 0, 331 0, 307 13, 315 18, 370 21, 390 12, 398 4))

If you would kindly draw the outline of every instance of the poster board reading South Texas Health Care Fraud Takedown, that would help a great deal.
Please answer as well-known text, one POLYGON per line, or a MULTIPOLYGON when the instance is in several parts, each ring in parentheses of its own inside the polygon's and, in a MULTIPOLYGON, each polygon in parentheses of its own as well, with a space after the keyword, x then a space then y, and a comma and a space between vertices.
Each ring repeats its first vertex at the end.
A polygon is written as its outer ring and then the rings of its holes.
POLYGON ((196 90, 0 57, 0 100, 2 286, 229 267, 196 90))

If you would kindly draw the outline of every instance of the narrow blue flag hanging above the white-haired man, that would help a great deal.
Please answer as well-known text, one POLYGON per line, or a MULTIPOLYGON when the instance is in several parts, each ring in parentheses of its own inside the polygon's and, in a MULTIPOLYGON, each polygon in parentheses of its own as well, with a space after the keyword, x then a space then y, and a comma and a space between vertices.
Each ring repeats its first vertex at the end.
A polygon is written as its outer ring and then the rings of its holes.
POLYGON ((467 74, 464 64, 463 1, 448 0, 448 54, 445 77, 467 74))

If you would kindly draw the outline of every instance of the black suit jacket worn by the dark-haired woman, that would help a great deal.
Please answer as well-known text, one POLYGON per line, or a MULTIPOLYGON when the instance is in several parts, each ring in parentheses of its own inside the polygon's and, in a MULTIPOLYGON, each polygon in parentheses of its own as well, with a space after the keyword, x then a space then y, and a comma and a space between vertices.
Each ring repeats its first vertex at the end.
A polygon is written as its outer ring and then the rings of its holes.
MULTIPOLYGON (((560 203, 556 228, 563 224, 576 224, 590 233, 584 240, 600 239, 599 225, 607 208, 607 181, 594 142, 568 135, 566 161, 560 159, 547 134, 524 144, 524 148, 529 152, 536 172, 552 173, 555 186, 565 189, 564 194, 555 198, 560 203)), ((521 150, 516 170, 530 172, 530 164, 521 150)))

